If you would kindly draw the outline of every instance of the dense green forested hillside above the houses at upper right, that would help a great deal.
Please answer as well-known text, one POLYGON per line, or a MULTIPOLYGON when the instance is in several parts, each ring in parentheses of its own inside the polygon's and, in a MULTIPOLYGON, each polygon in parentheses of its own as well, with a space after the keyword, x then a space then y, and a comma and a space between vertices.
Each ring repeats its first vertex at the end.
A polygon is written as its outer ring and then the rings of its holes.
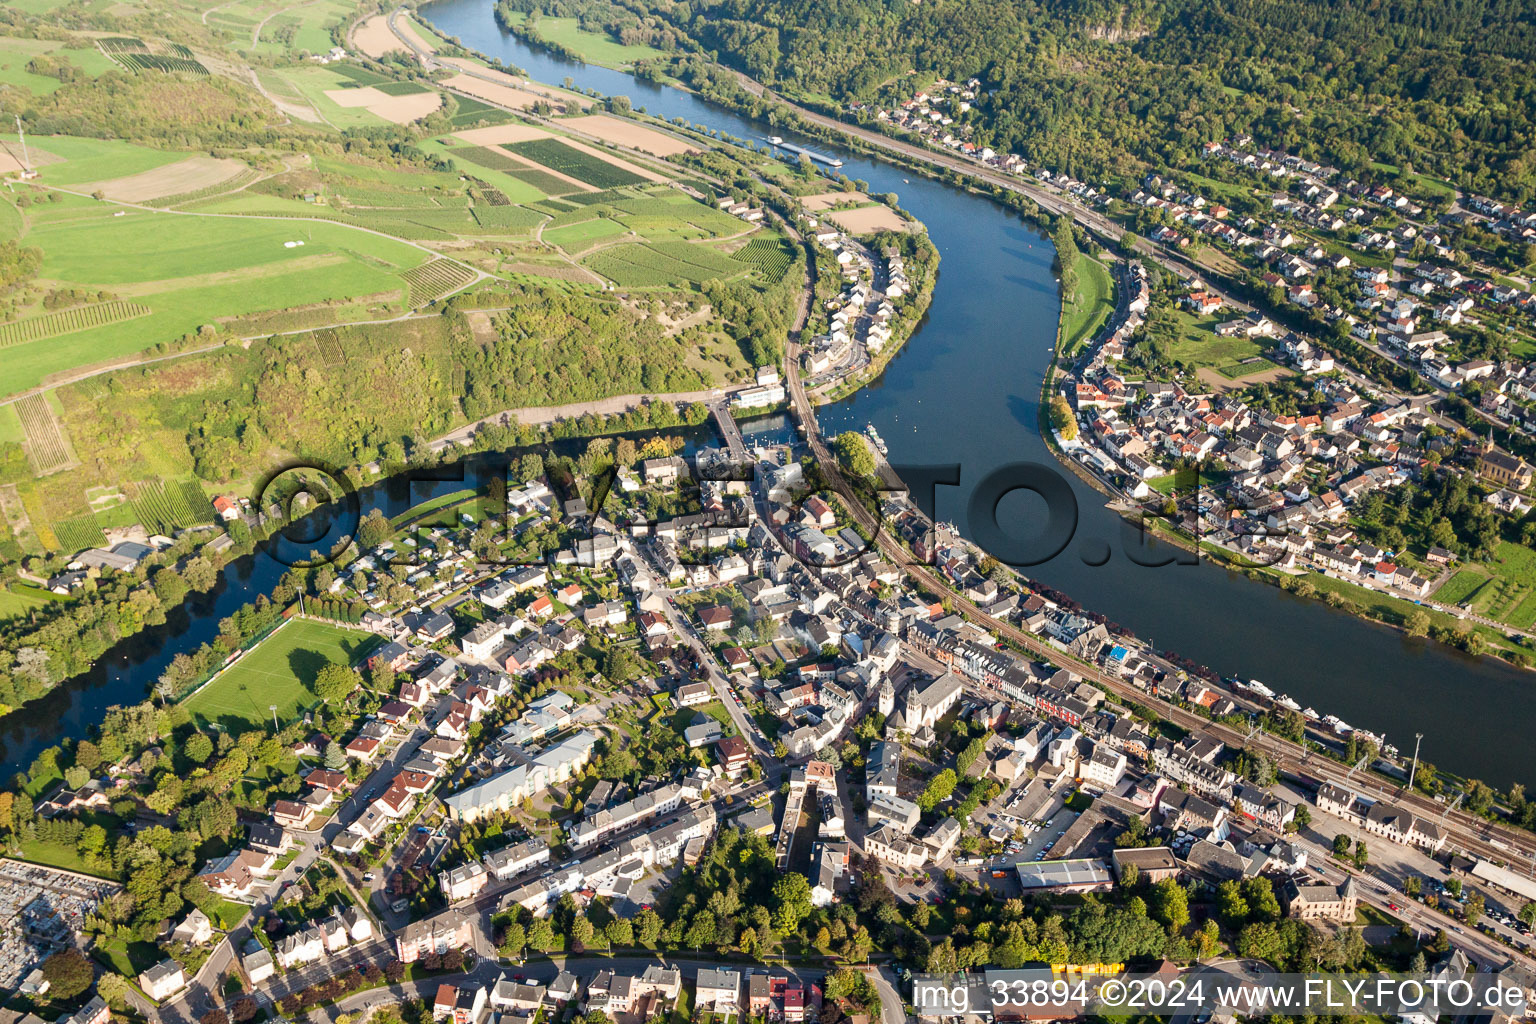
POLYGON ((1355 172, 1382 161, 1516 198, 1536 189, 1536 31, 1511 0, 627 3, 579 6, 616 26, 662 15, 806 100, 978 77, 975 141, 1081 178, 1250 132, 1355 172))

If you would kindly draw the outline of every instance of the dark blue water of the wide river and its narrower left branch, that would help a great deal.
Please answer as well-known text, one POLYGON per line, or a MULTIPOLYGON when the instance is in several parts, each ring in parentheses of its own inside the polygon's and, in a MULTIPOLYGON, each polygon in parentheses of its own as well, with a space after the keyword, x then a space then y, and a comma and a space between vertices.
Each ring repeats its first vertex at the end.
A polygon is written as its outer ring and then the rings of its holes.
MULTIPOLYGON (((579 88, 628 95, 650 114, 680 117, 737 138, 785 134, 680 89, 538 52, 496 25, 490 0, 442 0, 422 14, 444 34, 525 68, 541 81, 559 84, 570 77, 579 88)), ((1014 462, 1051 467, 1077 499, 1077 530, 1061 554, 1025 568, 1029 576, 1161 649, 1224 676, 1261 679, 1322 714, 1382 732, 1407 751, 1413 734, 1424 732, 1427 761, 1501 786, 1536 781, 1536 748, 1528 742, 1536 726, 1536 702, 1528 699, 1533 677, 1209 563, 1149 567, 1175 553, 1140 545, 1097 491, 1055 467, 1035 425, 1060 312, 1051 243, 1038 230, 988 200, 900 167, 820 140, 791 141, 837 152, 845 161, 842 173, 877 192, 895 192, 928 226, 943 256, 926 322, 879 381, 820 410, 826 431, 874 424, 897 465, 958 464, 960 485, 937 488, 935 511, 966 536, 974 533, 966 504, 989 473, 1014 462)), ((777 422, 765 427, 773 433, 783 428, 777 422)), ((462 484, 436 490, 455 487, 462 484)), ((416 490, 409 499, 396 491, 366 500, 398 513, 425 496, 416 490)), ((1040 499, 1015 493, 998 505, 997 520, 1028 539, 1040 531, 1035 524, 1043 511, 1040 499)), ((141 700, 177 649, 212 639, 218 619, 270 590, 283 571, 269 556, 255 556, 217 591, 172 616, 166 629, 124 643, 89 676, 0 720, 5 771, 25 768, 49 743, 84 734, 108 706, 141 700)))

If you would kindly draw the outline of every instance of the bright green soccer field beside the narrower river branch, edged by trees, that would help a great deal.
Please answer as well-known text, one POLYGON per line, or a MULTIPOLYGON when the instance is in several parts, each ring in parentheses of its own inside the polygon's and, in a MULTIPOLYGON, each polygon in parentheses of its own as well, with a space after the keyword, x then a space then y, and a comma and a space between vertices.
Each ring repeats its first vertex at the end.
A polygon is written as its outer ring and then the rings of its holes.
POLYGON ((310 686, 321 668, 355 665, 378 642, 362 629, 296 619, 189 697, 187 711, 200 726, 220 725, 230 732, 272 722, 272 705, 278 722, 290 722, 315 703, 310 686))

